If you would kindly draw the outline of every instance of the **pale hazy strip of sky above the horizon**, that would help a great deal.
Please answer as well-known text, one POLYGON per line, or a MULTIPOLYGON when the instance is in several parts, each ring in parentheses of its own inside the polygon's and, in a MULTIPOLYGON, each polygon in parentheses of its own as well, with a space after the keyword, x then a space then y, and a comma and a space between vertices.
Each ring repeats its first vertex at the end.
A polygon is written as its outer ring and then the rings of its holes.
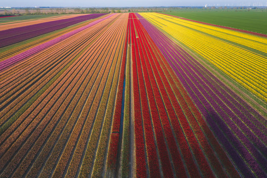
POLYGON ((267 0, 0 0, 0 6, 34 7, 132 7, 132 6, 204 6, 263 5, 267 0))

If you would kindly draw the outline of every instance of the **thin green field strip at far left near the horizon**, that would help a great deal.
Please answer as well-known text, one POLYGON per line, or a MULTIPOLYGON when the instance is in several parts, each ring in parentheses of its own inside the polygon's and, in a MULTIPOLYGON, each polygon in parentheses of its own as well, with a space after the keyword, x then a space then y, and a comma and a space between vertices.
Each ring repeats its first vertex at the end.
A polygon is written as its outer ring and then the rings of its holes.
POLYGON ((0 23, 15 22, 15 21, 20 21, 20 20, 34 20, 34 19, 41 19, 41 18, 59 16, 59 15, 61 15, 61 14, 20 15, 20 16, 15 16, 15 17, 4 17, 4 18, 0 18, 0 23))

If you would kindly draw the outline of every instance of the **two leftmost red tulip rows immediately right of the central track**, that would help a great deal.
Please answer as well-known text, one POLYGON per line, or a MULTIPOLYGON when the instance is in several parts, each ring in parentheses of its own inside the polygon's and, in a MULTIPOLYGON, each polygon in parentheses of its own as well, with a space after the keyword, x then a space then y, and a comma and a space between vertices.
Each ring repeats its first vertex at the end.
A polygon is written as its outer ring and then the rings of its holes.
POLYGON ((149 164, 151 177, 160 177, 157 150, 154 142, 154 132, 150 120, 148 99, 143 81, 140 55, 138 50, 137 36, 135 35, 133 13, 130 13, 131 20, 131 45, 133 58, 133 86, 134 86, 134 130, 135 130, 135 154, 136 154, 136 176, 147 175, 146 162, 149 164), (137 134, 138 133, 138 134, 137 134), (145 156, 147 155, 147 156, 145 156))

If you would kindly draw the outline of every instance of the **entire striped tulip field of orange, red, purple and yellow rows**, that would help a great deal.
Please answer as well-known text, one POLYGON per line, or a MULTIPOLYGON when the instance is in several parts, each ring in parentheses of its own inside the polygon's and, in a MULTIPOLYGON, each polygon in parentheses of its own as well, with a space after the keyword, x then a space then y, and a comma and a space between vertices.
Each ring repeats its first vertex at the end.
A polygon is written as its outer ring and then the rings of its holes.
POLYGON ((147 12, 0 23, 1 178, 266 165, 267 35, 147 12))

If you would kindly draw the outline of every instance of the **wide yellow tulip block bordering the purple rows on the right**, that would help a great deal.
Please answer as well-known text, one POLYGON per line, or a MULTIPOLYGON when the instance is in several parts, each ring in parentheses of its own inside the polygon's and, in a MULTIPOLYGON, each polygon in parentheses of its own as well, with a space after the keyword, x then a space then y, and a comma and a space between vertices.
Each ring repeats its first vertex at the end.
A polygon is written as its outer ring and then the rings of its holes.
POLYGON ((264 56, 173 23, 172 19, 176 19, 175 17, 166 18, 166 15, 157 13, 141 15, 267 101, 267 61, 264 56))

